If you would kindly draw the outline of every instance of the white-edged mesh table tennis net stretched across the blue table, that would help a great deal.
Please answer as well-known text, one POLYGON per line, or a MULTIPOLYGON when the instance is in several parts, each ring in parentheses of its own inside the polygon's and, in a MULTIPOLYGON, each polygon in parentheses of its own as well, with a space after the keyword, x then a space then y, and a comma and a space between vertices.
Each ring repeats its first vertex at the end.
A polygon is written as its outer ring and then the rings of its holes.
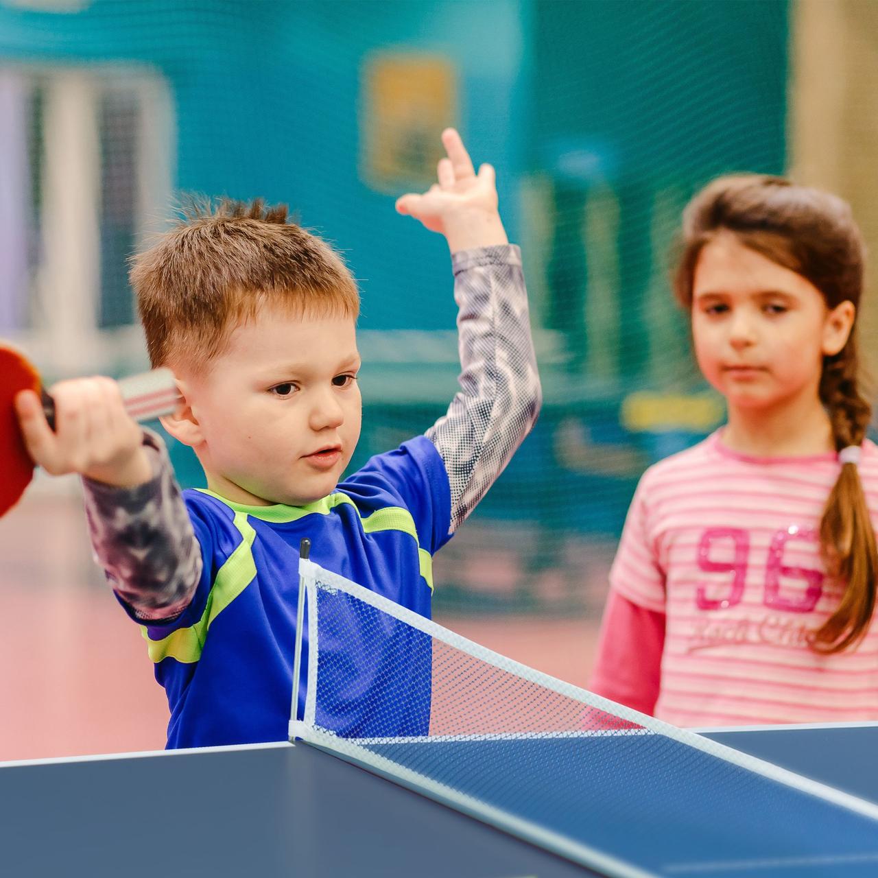
POLYGON ((300 572, 306 696, 291 738, 604 874, 841 867, 838 850, 878 867, 878 806, 523 666, 310 561, 300 572), (650 841, 635 866, 632 832, 650 841))

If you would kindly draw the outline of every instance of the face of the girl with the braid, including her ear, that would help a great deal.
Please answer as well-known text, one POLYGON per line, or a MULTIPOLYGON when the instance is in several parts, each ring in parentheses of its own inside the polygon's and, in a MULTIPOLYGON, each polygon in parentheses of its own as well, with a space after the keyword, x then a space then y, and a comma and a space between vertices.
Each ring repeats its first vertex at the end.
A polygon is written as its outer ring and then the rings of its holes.
POLYGON ((692 334, 698 365, 730 408, 817 400, 824 356, 844 348, 854 307, 830 310, 820 291, 730 233, 695 266, 692 334))

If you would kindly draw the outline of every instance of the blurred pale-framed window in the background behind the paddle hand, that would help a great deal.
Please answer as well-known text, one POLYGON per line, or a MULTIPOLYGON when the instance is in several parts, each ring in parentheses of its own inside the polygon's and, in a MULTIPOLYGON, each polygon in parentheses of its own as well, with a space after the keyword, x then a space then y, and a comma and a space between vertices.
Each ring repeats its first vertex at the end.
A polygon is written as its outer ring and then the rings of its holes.
POLYGON ((44 368, 112 360, 136 323, 128 260, 168 210, 172 129, 152 71, 0 67, 0 334, 44 368))

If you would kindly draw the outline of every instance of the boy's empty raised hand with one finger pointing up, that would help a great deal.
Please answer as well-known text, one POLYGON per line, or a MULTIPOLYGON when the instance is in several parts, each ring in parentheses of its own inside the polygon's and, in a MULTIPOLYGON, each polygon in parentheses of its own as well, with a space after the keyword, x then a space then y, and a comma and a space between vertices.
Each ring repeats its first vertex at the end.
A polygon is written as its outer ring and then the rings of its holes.
POLYGON ((454 128, 443 131, 442 141, 448 155, 436 168, 438 183, 423 195, 408 192, 398 198, 397 211, 420 219, 431 232, 443 234, 452 253, 508 243, 497 212, 493 167, 483 164, 476 174, 454 128))

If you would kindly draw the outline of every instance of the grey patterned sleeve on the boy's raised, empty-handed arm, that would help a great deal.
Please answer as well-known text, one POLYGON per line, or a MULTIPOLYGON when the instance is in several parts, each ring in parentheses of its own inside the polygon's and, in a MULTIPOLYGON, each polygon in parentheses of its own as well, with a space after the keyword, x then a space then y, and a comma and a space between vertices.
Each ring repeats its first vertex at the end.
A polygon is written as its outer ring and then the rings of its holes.
POLYGON ((519 248, 465 250, 452 265, 460 391, 427 437, 448 471, 454 532, 533 427, 542 391, 519 248))

